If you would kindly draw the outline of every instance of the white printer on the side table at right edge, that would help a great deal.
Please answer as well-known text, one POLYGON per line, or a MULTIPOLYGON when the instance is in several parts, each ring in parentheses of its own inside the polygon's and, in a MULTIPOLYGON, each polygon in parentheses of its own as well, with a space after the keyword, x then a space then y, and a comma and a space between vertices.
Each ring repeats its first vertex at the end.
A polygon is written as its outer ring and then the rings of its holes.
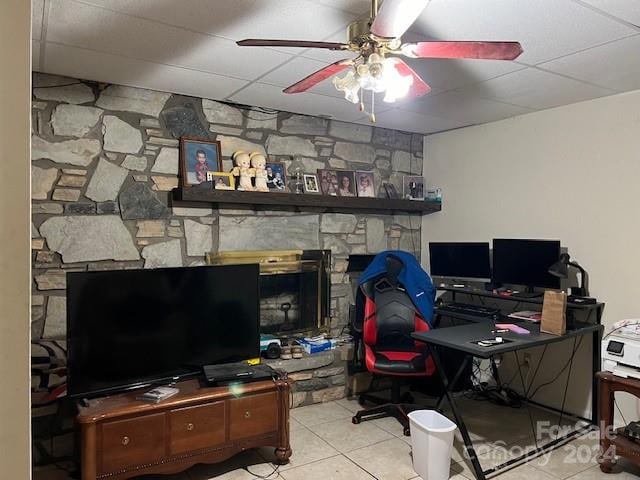
POLYGON ((623 320, 613 327, 602 340, 602 369, 640 379, 640 319, 623 320))

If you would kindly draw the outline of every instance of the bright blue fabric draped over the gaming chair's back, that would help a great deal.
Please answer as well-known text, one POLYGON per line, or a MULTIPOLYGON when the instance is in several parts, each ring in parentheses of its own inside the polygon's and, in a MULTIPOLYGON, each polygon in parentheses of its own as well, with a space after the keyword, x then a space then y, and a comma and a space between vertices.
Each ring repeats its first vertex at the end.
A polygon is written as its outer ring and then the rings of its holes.
POLYGON ((389 256, 393 256, 402 262, 403 268, 398 275, 398 281, 409 294, 420 315, 432 327, 436 290, 429 274, 424 271, 416 257, 409 252, 386 250, 379 253, 374 257, 367 269, 362 272, 358 284, 363 285, 369 280, 387 273, 387 257, 389 256))

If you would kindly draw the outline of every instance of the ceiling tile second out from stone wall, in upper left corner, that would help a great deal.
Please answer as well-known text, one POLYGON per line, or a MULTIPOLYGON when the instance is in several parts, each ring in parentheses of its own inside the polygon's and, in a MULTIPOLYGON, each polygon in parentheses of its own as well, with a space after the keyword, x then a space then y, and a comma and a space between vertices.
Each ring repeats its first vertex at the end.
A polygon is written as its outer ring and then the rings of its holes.
POLYGON ((256 78, 290 58, 71 0, 52 3, 47 40, 242 79, 256 78))

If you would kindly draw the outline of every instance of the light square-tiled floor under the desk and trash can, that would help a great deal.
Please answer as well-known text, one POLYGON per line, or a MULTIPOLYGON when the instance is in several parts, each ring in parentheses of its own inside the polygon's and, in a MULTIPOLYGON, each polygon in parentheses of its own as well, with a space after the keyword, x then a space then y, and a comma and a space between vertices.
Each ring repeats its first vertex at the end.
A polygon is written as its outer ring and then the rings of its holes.
MULTIPOLYGON (((487 402, 460 399, 468 427, 484 468, 504 462, 534 444, 525 408, 497 407, 487 402), (465 405, 466 403, 466 405, 465 405), (496 426, 499 419, 500 426, 496 426)), ((411 461, 411 439, 402 435, 400 424, 391 418, 351 423, 360 407, 355 400, 311 405, 291 410, 289 464, 275 468, 273 449, 245 452, 217 465, 197 465, 173 476, 145 476, 144 480, 410 480, 419 479, 411 461)), ((542 410, 534 421, 553 421, 542 410)), ((557 423, 557 419, 556 422, 557 423)), ((569 422, 564 422, 569 424, 569 422)), ((451 461, 452 480, 473 480, 470 464, 463 459, 459 435, 451 461)), ((631 480, 640 469, 620 462, 614 473, 600 472, 596 463, 598 439, 594 433, 558 448, 531 462, 499 475, 500 480, 631 480)), ((34 480, 66 480, 67 474, 53 467, 38 469, 34 480)))

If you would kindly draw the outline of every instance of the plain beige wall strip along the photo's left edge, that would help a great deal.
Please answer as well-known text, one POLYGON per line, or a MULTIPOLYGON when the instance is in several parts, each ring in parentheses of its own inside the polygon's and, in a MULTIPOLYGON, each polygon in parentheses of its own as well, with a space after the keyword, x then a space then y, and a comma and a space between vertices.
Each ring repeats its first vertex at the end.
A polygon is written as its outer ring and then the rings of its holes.
POLYGON ((0 8, 0 477, 28 479, 31 4, 0 8))

